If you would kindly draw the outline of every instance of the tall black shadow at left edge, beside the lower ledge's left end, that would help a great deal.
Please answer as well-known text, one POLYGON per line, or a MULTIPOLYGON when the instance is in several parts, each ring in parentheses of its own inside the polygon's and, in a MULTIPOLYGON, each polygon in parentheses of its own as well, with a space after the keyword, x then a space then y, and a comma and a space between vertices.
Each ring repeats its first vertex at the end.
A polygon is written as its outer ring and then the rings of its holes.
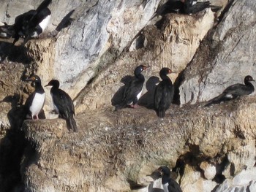
MULTIPOLYGON (((26 117, 24 106, 19 103, 18 94, 6 96, 0 104, 2 102, 10 103, 12 109, 7 114, 10 128, 5 129, 5 136, 0 139, 0 180, 3 184, 0 191, 25 191, 20 171, 24 151, 29 146, 21 129, 26 117)), ((39 118, 45 118, 44 112, 40 113, 39 118)))

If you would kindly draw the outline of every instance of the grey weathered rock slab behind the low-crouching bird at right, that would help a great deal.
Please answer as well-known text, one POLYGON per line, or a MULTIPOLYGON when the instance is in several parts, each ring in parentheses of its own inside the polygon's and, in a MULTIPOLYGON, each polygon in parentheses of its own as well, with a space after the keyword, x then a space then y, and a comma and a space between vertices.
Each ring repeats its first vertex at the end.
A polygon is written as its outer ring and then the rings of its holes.
POLYGON ((255 1, 233 1, 185 69, 181 104, 207 101, 228 86, 243 83, 247 74, 254 76, 256 42, 249 39, 255 39, 255 8, 255 1))

